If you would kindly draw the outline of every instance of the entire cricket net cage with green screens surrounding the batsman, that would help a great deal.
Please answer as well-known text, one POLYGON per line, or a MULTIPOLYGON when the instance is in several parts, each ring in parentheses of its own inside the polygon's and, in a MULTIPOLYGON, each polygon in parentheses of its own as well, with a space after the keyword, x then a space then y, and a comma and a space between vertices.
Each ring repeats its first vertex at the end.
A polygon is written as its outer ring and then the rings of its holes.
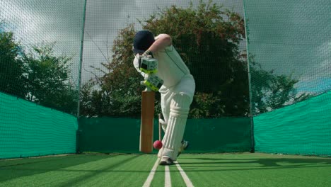
POLYGON ((170 35, 194 76, 188 153, 330 156, 330 11, 327 0, 0 0, 0 158, 138 153, 138 30, 170 35))

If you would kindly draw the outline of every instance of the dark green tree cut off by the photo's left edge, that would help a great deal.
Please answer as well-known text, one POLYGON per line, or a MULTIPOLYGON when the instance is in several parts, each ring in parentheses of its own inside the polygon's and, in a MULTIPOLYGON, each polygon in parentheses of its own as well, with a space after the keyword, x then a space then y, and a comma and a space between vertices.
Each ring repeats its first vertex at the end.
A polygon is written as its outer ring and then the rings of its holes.
POLYGON ((24 98, 23 50, 13 33, 3 28, 4 23, 0 23, 0 91, 24 98))

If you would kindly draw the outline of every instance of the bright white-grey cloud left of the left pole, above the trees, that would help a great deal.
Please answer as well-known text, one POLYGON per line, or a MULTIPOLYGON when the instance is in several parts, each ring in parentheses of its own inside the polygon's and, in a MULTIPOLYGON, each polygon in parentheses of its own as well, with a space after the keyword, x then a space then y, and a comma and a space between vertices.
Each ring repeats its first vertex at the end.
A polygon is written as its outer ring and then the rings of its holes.
POLYGON ((25 1, 2 0, 0 19, 6 30, 14 33, 25 50, 33 45, 57 42, 57 55, 73 56, 73 77, 78 82, 83 1, 25 1))

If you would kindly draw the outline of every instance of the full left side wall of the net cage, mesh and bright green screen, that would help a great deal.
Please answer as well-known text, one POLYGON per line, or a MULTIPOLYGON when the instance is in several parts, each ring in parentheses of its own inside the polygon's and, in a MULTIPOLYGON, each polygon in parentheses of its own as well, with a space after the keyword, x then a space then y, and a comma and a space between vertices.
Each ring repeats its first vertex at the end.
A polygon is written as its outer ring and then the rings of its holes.
POLYGON ((0 1, 0 158, 76 152, 84 4, 0 1))

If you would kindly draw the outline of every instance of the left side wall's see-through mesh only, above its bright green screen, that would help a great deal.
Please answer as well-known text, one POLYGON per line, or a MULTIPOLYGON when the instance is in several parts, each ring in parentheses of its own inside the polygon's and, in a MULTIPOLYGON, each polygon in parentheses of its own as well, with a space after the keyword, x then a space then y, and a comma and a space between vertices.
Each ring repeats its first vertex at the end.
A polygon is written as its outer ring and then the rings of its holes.
POLYGON ((0 91, 77 114, 84 1, 0 1, 0 91))

